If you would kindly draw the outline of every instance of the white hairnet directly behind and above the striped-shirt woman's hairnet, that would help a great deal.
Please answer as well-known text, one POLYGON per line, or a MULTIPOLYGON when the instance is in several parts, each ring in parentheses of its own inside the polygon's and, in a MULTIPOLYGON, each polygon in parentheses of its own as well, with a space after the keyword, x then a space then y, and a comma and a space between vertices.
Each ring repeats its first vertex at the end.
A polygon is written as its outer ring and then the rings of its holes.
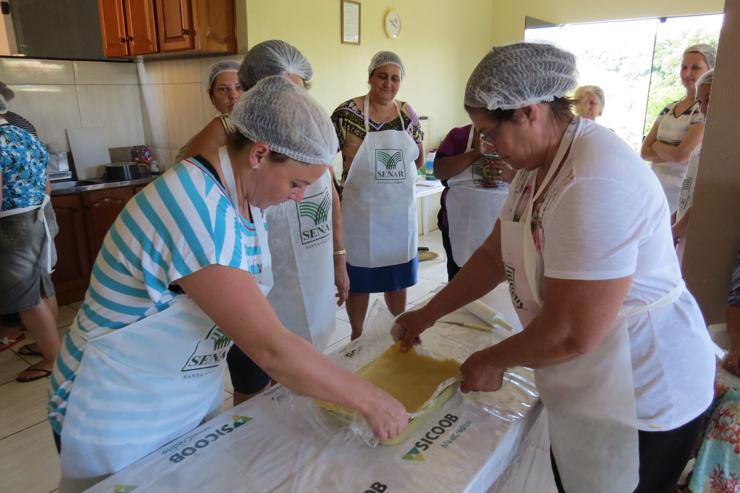
POLYGON ((239 82, 248 87, 270 76, 300 76, 309 81, 313 75, 308 58, 292 44, 279 39, 255 44, 239 67, 239 82))

